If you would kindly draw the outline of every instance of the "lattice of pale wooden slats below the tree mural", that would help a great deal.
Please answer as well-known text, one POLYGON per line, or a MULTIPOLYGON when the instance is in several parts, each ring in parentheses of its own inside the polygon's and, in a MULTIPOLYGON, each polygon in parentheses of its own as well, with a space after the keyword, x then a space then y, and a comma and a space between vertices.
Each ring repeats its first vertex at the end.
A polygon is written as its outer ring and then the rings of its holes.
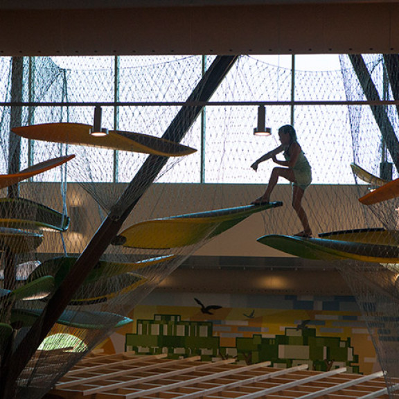
MULTIPOLYGON (((67 399, 388 399, 382 373, 325 373, 308 365, 276 369, 263 364, 165 360, 164 355, 91 357, 52 391, 67 399), (92 373, 92 375, 91 375, 92 373)), ((390 391, 399 389, 393 385, 390 391)))

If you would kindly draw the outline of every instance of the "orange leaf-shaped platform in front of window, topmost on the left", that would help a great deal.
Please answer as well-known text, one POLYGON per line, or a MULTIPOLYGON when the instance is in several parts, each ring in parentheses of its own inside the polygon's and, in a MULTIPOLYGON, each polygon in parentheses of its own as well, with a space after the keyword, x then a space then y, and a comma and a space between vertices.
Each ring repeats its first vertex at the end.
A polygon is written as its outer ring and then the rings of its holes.
POLYGON ((14 127, 12 132, 31 140, 142 152, 163 157, 181 157, 197 151, 148 134, 110 130, 106 136, 92 136, 89 134, 91 127, 82 123, 44 123, 14 127))

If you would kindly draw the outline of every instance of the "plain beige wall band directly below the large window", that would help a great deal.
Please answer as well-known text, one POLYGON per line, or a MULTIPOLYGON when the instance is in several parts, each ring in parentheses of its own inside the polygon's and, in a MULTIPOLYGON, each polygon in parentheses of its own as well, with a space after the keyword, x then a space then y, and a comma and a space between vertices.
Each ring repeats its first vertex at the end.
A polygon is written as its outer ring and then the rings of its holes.
MULTIPOLYGON (((60 184, 35 183, 35 190, 26 191, 24 185, 26 184, 21 184, 22 197, 28 192, 29 199, 62 211, 60 184)), ((112 184, 115 197, 123 192, 125 186, 126 184, 112 184)), ((68 251, 72 248, 82 250, 106 213, 82 186, 68 184, 67 187, 68 209, 70 211, 71 206, 75 209, 73 215, 70 215, 71 229, 64 233, 64 238, 68 251), (90 218, 87 215, 91 215, 90 218)), ((99 184, 97 190, 100 192, 102 189, 109 192, 109 184, 99 184)), ((153 184, 127 218, 123 228, 153 218, 246 205, 261 195, 264 189, 265 186, 259 184, 153 184)), ((358 202, 359 195, 355 185, 310 186, 306 190, 303 206, 308 211, 314 235, 323 232, 319 231, 320 227, 328 229, 327 231, 357 229, 370 225, 380 227, 380 222, 371 213, 365 212, 364 206, 358 202)), ((291 187, 287 184, 276 186, 272 200, 282 201, 283 206, 251 215, 233 229, 207 242, 193 255, 287 257, 281 251, 256 242, 257 238, 266 233, 293 234, 301 230, 301 224, 291 207, 291 187)), ((51 240, 51 247, 46 244, 48 240, 45 240, 39 251, 63 252, 61 240, 57 239, 57 233, 53 234, 55 238, 51 240)))

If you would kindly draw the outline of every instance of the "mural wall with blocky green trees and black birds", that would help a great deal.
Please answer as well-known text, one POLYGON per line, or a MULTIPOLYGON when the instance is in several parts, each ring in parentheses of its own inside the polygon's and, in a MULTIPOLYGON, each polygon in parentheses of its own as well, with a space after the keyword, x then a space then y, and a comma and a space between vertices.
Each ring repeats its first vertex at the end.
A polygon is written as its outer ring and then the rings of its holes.
POLYGON ((193 355, 196 346, 195 354, 208 361, 236 356, 238 362, 271 361, 278 367, 307 363, 309 369, 326 371, 326 362, 332 362, 332 369, 345 366, 349 373, 380 370, 353 296, 153 292, 129 316, 134 322, 97 351, 177 357, 193 355), (195 298, 221 308, 204 314, 195 298), (206 334, 196 334, 201 329, 206 334))

